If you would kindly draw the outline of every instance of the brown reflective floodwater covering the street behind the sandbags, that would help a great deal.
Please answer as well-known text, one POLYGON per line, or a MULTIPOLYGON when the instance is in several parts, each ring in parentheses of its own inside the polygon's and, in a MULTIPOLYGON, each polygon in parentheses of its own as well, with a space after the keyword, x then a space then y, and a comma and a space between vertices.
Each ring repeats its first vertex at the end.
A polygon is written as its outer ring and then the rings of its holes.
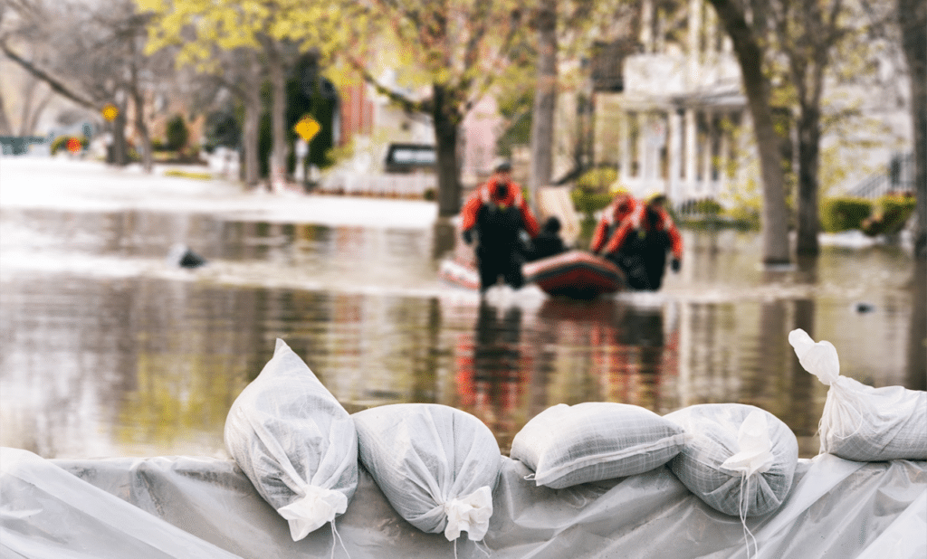
POLYGON ((106 204, 88 192, 135 178, 8 162, 0 444, 44 457, 227 456, 229 406, 276 338, 350 412, 451 405, 481 418, 503 453, 548 406, 610 401, 661 415, 754 404, 814 455, 827 387, 794 358, 795 328, 832 342, 845 376, 925 389, 925 283, 897 246, 827 245, 764 270, 756 233, 685 230, 682 272, 661 292, 577 302, 529 286, 481 301, 438 279, 454 229, 424 203, 210 197, 219 186, 178 180, 110 205, 116 191, 106 204), (35 194, 49 181, 52 198, 35 194), (172 266, 174 242, 209 265, 172 266))

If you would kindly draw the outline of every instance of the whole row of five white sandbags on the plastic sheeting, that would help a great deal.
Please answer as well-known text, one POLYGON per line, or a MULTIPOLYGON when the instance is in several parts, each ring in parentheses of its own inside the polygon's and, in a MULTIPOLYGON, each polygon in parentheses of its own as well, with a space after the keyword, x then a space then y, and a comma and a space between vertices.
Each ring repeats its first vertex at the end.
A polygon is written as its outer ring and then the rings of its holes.
MULTIPOLYGON (((811 372, 832 365, 827 346, 796 332, 790 341, 811 372)), ((840 393, 856 388, 845 382, 851 379, 830 380, 840 393)), ((863 389, 865 398, 845 405, 832 404, 832 396, 841 403, 845 398, 833 388, 829 392, 822 452, 849 448, 853 456, 844 457, 855 460, 927 459, 927 392, 890 387, 894 407, 886 409, 878 401, 879 391, 888 389, 863 389), (873 401, 879 404, 874 416, 858 407, 873 401), (827 421, 829 409, 843 413, 854 405, 855 416, 827 421), (886 417, 895 410, 898 420, 892 423, 886 417)), ((281 340, 235 400, 224 435, 238 466, 288 520, 293 540, 347 510, 359 460, 414 527, 443 532, 448 540, 462 531, 482 540, 489 529, 501 453, 482 421, 440 404, 383 405, 349 415, 281 340)), ((791 489, 797 455, 792 431, 754 406, 702 404, 658 416, 615 403, 554 405, 528 421, 510 453, 534 472, 528 480, 554 489, 668 464, 705 503, 741 517, 778 508, 791 489)))

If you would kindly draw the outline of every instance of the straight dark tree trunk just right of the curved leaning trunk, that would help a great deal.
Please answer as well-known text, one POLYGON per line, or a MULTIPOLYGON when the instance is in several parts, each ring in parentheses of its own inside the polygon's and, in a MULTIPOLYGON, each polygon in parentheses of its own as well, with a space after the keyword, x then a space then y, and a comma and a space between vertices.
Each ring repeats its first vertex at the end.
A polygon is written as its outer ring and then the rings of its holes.
POLYGON ((820 111, 818 107, 803 107, 798 118, 798 223, 795 251, 799 255, 817 255, 820 252, 819 155, 820 111))

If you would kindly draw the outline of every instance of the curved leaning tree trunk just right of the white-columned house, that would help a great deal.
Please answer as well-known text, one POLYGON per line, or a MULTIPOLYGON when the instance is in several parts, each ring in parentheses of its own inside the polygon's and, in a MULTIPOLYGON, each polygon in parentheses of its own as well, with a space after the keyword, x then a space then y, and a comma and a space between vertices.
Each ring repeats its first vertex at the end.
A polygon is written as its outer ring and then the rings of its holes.
POLYGON ((718 19, 734 45, 741 67, 743 90, 753 118, 756 149, 763 176, 763 263, 788 264, 791 259, 785 180, 781 167, 780 140, 772 124, 772 111, 769 110, 770 85, 763 73, 763 50, 737 4, 732 0, 708 2, 715 6, 718 19))

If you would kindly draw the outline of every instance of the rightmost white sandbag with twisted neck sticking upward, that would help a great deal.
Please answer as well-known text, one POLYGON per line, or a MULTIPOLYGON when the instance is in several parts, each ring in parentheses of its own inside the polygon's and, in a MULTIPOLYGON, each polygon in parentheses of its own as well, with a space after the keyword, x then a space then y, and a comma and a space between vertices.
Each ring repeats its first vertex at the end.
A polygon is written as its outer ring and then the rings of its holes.
POLYGON ((805 370, 831 387, 819 424, 821 453, 858 462, 927 460, 927 392, 841 376, 832 343, 816 343, 803 329, 792 330, 789 343, 805 370))

